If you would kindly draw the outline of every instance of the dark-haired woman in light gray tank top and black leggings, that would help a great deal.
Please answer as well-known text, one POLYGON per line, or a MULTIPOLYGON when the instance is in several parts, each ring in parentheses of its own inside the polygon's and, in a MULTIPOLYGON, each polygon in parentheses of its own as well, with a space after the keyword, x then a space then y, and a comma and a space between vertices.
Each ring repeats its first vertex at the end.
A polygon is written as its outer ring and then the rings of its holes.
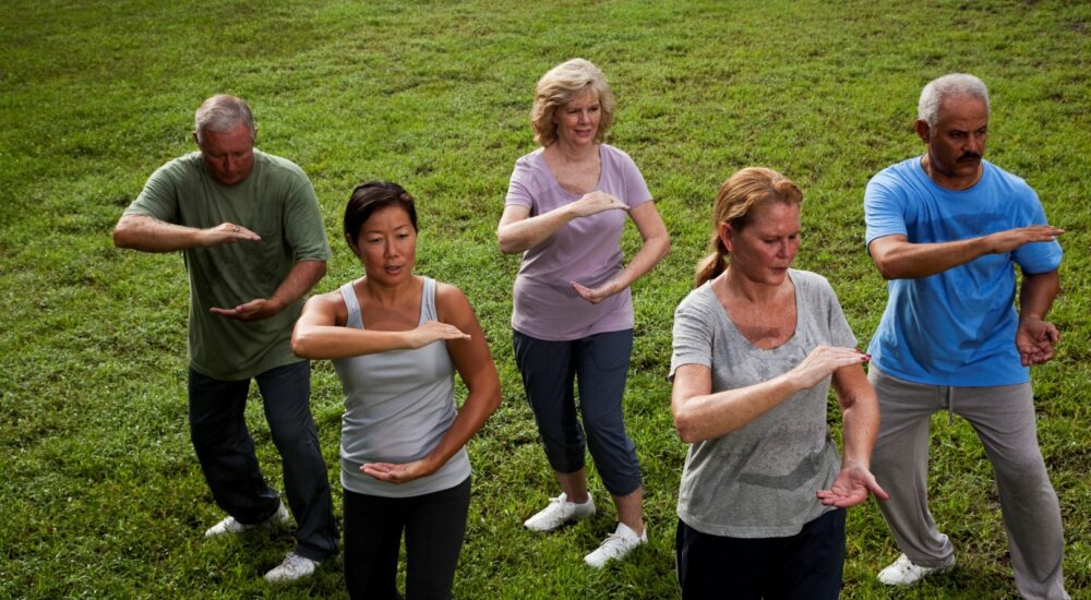
POLYGON ((417 211, 395 183, 353 190, 345 239, 364 276, 309 300, 291 347, 332 359, 345 392, 345 583, 352 598, 449 598, 466 532, 466 442, 500 406, 500 382, 458 288, 413 274, 417 211), (466 384, 454 401, 454 373, 466 384))

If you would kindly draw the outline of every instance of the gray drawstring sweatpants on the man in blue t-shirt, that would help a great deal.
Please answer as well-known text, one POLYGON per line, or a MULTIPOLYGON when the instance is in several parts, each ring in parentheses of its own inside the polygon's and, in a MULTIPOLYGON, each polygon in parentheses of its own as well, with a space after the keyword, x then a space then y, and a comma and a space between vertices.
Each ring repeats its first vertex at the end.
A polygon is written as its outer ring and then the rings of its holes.
POLYGON ((923 385, 870 368, 882 422, 872 472, 889 494, 879 509, 898 548, 922 566, 943 565, 955 552, 928 512, 928 431, 932 413, 970 421, 996 475, 1016 586, 1024 598, 1066 599, 1060 505, 1038 447, 1029 383, 995 387, 923 385))

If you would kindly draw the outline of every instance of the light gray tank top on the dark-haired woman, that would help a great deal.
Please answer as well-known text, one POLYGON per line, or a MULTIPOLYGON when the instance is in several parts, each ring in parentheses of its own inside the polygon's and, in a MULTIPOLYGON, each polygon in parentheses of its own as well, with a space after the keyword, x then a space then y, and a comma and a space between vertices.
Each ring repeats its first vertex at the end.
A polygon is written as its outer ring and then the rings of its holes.
MULTIPOLYGON (((352 284, 340 288, 347 327, 363 329, 352 284)), ((435 280, 424 277, 420 322, 436 321, 435 280)), ((461 483, 470 475, 466 448, 436 472, 400 485, 360 472, 364 463, 410 463, 423 458, 454 422, 455 368, 443 341, 416 350, 391 350, 333 361, 345 393, 341 418, 341 485, 351 492, 408 497, 461 483)))

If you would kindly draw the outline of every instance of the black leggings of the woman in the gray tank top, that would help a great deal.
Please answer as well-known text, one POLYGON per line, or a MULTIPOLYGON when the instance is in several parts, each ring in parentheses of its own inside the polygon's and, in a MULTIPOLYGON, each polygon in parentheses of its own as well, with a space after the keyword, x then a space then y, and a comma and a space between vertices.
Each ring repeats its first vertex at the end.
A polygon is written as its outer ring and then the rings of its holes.
POLYGON ((451 598, 466 536, 470 479, 447 490, 383 497, 345 490, 345 586, 351 598, 393 600, 406 536, 406 598, 451 598))

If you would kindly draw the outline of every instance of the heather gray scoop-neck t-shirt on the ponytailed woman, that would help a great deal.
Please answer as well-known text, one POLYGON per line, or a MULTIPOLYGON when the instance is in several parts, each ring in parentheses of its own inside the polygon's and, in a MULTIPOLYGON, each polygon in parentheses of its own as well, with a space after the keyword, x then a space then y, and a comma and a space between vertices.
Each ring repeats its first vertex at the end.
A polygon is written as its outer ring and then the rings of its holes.
MULTIPOLYGON (((711 285, 690 292, 674 312, 670 379, 683 364, 712 371, 712 392, 746 387, 793 369, 816 346, 854 347, 837 296, 820 275, 789 271, 795 285, 795 334, 779 348, 753 346, 735 328, 711 285)), ((679 518, 732 538, 779 538, 832 507, 815 497, 840 470, 826 425, 829 381, 799 392, 746 425, 690 446, 679 490, 679 518)))

